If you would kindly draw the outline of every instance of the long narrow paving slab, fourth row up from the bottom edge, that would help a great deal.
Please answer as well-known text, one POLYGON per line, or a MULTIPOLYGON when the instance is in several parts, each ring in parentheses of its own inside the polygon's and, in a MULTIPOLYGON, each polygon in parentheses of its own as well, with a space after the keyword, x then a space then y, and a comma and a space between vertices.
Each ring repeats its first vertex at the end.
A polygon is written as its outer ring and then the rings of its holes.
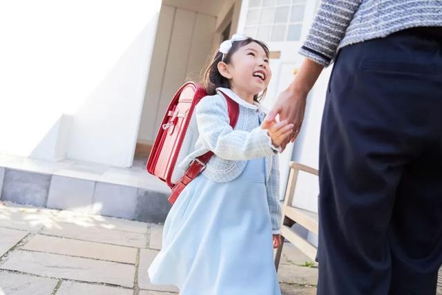
POLYGON ((54 227, 44 228, 41 234, 88 240, 91 242, 104 242, 112 245, 128 247, 146 247, 146 234, 133 233, 130 231, 118 231, 99 227, 84 227, 66 222, 57 222, 54 227))

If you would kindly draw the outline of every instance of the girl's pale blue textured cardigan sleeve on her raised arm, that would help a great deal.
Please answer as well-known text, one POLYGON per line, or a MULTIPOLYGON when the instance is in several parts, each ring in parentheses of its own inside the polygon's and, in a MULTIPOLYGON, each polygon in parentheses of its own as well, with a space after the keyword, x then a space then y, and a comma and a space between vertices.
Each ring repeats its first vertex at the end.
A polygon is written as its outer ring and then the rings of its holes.
POLYGON ((260 126, 250 132, 232 129, 224 97, 204 97, 196 106, 196 121, 207 149, 225 160, 250 160, 278 153, 260 126))

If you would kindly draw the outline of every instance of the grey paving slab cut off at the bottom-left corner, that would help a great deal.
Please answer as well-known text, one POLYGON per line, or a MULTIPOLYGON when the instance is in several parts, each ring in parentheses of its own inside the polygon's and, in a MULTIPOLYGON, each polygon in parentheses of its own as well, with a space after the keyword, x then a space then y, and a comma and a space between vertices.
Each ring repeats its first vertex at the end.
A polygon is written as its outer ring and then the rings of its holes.
POLYGON ((0 294, 4 295, 50 295, 58 280, 40 278, 12 272, 0 272, 0 294), (3 292, 3 293, 2 293, 3 292))

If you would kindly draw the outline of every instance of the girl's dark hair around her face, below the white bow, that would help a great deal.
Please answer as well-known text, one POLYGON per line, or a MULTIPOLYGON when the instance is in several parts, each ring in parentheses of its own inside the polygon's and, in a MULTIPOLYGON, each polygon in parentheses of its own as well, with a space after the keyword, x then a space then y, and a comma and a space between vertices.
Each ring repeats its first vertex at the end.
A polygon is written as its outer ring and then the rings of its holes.
MULTIPOLYGON (((217 51, 213 56, 211 63, 206 67, 206 70, 204 71, 204 81, 202 84, 204 85, 204 88, 206 88, 206 92, 208 95, 214 95, 216 93, 216 88, 218 87, 230 88, 229 79, 221 75, 220 71, 218 70, 218 63, 220 61, 224 61, 226 64, 229 64, 231 62, 231 57, 233 53, 236 53, 236 51, 238 51, 238 49, 242 46, 245 46, 252 42, 255 42, 256 44, 261 46, 262 49, 264 49, 265 55, 267 56, 267 58, 269 58, 270 51, 267 45, 264 42, 253 39, 251 37, 247 37, 247 39, 240 41, 234 41, 229 52, 224 55, 224 59, 222 58, 222 53, 217 51)), ((266 92, 267 88, 265 88, 265 90, 262 91, 260 95, 253 95, 253 100, 255 102, 260 102, 260 100, 265 96, 266 92)))

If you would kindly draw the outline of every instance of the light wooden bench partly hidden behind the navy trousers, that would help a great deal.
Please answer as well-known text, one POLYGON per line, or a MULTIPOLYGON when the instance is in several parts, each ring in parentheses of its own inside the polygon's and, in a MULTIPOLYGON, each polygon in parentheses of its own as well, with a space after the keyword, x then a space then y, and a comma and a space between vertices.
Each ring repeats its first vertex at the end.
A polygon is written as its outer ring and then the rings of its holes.
POLYGON ((282 206, 281 246, 275 249, 274 255, 276 271, 278 271, 282 247, 284 246, 285 240, 288 240, 294 244, 298 249, 300 249, 300 251, 311 258, 311 260, 315 260, 316 258, 316 247, 311 245, 311 243, 309 243, 305 238, 302 238, 300 235, 296 234, 291 227, 295 223, 298 223, 302 227, 305 227, 305 229, 308 229, 309 231, 318 235, 318 213, 292 207, 291 204, 293 204, 296 180, 298 180, 299 171, 304 171, 318 176, 318 170, 295 162, 290 162, 289 165, 289 180, 287 182, 287 189, 285 191, 284 205, 282 206))

